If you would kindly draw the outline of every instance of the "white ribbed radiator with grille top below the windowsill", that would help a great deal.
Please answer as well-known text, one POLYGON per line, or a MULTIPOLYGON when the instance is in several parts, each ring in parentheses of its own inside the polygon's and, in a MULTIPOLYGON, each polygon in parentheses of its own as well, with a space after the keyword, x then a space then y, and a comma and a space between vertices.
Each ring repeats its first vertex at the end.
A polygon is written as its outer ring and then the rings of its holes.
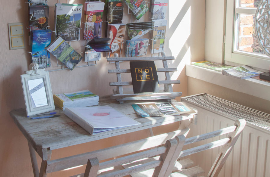
MULTIPOLYGON (((188 137, 233 125, 240 118, 246 127, 235 144, 219 177, 270 177, 270 115, 212 95, 181 98, 198 109, 198 123, 190 126, 188 137)), ((209 172, 220 149, 194 154, 191 159, 209 172)))

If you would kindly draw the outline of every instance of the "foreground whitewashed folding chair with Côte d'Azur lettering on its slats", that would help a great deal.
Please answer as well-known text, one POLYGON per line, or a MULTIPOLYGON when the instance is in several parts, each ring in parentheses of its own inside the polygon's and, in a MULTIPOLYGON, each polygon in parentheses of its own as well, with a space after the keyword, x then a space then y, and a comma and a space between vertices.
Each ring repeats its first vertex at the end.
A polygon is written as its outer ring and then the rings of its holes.
MULTIPOLYGON (((107 177, 107 176, 197 176, 204 173, 204 170, 200 166, 189 167, 193 164, 190 159, 182 159, 188 155, 212 149, 214 147, 220 147, 221 151, 218 154, 210 172, 207 176, 214 177, 220 172, 223 164, 225 163, 228 155, 230 154, 236 140, 242 132, 246 121, 244 119, 237 120, 234 126, 230 126, 224 129, 220 129, 214 132, 194 136, 185 139, 184 135, 178 135, 175 138, 167 140, 163 146, 157 146, 145 151, 139 151, 135 154, 129 154, 121 157, 117 157, 113 160, 100 162, 99 156, 88 159, 88 163, 85 169, 84 176, 89 177, 107 177), (226 138, 212 141, 211 143, 203 144, 197 147, 193 147, 187 150, 182 150, 183 145, 195 143, 205 139, 213 138, 219 135, 228 134, 226 138), (181 160, 180 160, 181 159, 181 160), (177 161, 178 160, 178 161, 177 161), (177 161, 177 162, 176 162, 177 161), (175 163, 176 162, 176 163, 175 163), (99 173, 102 169, 114 167, 111 170, 104 170, 99 173)), ((133 149, 134 152, 138 150, 137 141, 127 143, 129 148, 133 149)), ((123 150, 126 145, 118 146, 118 155, 123 155, 125 152, 119 153, 123 150)), ((146 143, 146 144, 149 144, 146 143)), ((146 146, 149 147, 149 146, 146 146)), ((140 148, 141 149, 141 148, 140 148)), ((101 150, 101 153, 114 153, 115 147, 110 147, 101 150), (113 151, 112 151, 113 150, 113 151)), ((102 159, 102 158, 101 158, 102 159)), ((102 159, 103 160, 103 159, 102 159)), ((81 174, 82 175, 82 174, 81 174)), ((76 175, 78 176, 78 175, 76 175)))

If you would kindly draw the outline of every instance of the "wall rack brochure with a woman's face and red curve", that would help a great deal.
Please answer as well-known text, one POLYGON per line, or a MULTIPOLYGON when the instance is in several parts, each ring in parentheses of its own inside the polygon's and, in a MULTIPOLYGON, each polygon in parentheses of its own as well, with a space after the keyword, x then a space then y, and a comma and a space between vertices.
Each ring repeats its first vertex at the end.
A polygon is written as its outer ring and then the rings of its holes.
POLYGON ((109 52, 109 57, 114 57, 114 54, 117 53, 118 57, 123 51, 123 40, 126 33, 125 24, 109 24, 108 25, 108 37, 111 39, 111 52, 109 52))

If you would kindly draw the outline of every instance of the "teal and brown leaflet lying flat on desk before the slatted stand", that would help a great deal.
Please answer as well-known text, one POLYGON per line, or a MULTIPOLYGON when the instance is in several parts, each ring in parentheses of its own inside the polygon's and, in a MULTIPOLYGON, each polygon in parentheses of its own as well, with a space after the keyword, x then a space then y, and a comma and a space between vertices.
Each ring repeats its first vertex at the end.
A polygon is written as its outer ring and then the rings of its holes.
POLYGON ((146 102, 131 105, 139 117, 172 116, 196 113, 184 102, 146 102))

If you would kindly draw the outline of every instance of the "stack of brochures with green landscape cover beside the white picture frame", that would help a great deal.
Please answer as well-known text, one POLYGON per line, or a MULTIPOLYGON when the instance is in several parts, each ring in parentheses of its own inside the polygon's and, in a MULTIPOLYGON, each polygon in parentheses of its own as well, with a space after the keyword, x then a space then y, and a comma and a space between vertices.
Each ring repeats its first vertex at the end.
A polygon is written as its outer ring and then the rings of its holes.
POLYGON ((66 107, 86 107, 98 105, 99 96, 89 90, 72 93, 61 93, 53 95, 54 104, 62 110, 66 107))

